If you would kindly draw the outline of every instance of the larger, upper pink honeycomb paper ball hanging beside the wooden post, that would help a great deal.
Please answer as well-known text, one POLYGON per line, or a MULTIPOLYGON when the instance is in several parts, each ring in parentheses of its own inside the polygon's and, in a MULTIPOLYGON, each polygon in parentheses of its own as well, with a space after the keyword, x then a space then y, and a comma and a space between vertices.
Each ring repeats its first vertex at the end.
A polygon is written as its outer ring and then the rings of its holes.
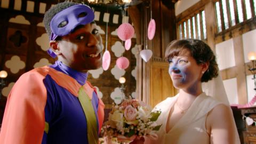
POLYGON ((123 23, 117 28, 117 36, 122 40, 126 41, 131 39, 134 35, 134 28, 130 23, 123 23))

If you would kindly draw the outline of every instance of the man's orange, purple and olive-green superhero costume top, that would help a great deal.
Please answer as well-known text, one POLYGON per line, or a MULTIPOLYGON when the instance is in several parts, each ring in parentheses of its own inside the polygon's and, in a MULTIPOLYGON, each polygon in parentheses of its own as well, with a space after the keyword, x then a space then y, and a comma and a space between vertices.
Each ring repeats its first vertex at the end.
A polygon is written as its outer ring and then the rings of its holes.
POLYGON ((60 61, 23 74, 9 94, 0 142, 97 143, 104 104, 86 78, 87 73, 60 61), (90 101, 91 114, 84 110, 90 106, 83 106, 81 97, 90 101), (94 138, 90 137, 91 131, 94 138))

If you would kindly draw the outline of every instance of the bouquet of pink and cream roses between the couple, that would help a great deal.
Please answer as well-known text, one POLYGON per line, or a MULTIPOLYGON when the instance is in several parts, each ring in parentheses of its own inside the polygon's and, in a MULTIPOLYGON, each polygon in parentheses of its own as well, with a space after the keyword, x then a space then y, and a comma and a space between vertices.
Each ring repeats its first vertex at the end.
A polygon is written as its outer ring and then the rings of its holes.
POLYGON ((126 99, 121 105, 113 106, 102 133, 109 133, 111 137, 117 137, 118 141, 133 141, 145 135, 156 139, 154 131, 158 131, 161 125, 156 125, 155 121, 160 114, 161 111, 152 111, 143 102, 126 99))

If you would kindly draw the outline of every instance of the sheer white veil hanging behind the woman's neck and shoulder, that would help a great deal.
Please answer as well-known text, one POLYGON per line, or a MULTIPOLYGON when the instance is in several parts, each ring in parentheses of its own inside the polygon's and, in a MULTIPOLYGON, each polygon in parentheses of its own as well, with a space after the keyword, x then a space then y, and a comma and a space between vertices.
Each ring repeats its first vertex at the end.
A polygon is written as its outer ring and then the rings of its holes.
POLYGON ((220 71, 218 77, 215 77, 211 81, 208 81, 206 83, 202 83, 202 89, 206 93, 206 95, 209 95, 214 99, 223 102, 229 106, 227 93, 222 82, 220 71))

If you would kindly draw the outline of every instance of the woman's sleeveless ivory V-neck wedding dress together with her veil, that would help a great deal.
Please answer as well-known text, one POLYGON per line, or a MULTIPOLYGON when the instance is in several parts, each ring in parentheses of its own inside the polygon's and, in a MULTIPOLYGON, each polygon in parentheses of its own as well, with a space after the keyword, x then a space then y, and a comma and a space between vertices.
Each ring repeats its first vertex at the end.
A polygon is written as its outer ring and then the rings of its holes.
MULTIPOLYGON (((207 113, 211 111, 215 106, 220 103, 224 103, 229 106, 227 95, 221 81, 221 77, 218 76, 212 81, 203 84, 203 91, 207 92, 198 95, 198 97, 191 104, 187 112, 181 117, 181 119, 172 127, 169 132, 166 132, 167 116, 170 113, 171 108, 177 101, 179 94, 175 97, 167 98, 166 100, 158 103, 155 109, 161 110, 162 113, 157 119, 157 124, 162 124, 159 131, 157 131, 158 139, 149 140, 146 139, 147 144, 189 144, 189 143, 210 143, 210 135, 206 131, 206 117, 207 113)), ((230 108, 231 110, 231 108, 230 108)), ((234 122, 235 124, 235 122, 234 122)), ((238 133, 236 131, 236 143, 240 143, 238 133)))

